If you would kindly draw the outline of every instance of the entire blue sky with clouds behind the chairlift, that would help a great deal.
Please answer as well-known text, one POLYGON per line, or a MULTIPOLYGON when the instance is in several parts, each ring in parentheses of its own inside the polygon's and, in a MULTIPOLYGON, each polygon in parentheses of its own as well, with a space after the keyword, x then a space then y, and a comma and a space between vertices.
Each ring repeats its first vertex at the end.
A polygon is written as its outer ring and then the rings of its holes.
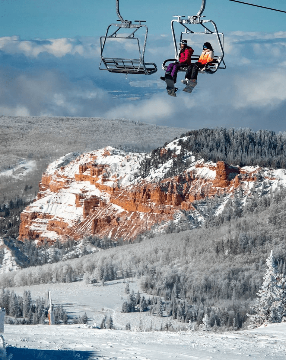
MULTIPOLYGON (((286 0, 247 2, 286 11, 286 0)), ((2 0, 1 114, 128 118, 189 129, 286 130, 285 13, 207 0, 203 15, 224 33, 227 68, 199 75, 191 95, 179 84, 177 98, 171 98, 159 79, 163 60, 174 56, 170 21, 172 15, 195 15, 201 1, 174 5, 173 0, 145 0, 140 10, 138 4, 120 0, 120 12, 132 22, 146 20, 145 61, 155 62, 158 72, 125 78, 98 70, 99 37, 116 22, 115 0, 2 0)), ((188 40, 200 54, 206 40, 188 40)), ((115 46, 116 51, 128 54, 130 46, 115 46)))

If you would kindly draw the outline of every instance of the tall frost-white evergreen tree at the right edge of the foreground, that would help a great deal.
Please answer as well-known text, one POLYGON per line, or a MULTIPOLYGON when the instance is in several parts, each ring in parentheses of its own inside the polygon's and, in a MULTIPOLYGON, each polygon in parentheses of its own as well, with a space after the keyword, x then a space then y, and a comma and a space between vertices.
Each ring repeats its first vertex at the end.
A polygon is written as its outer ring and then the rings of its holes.
POLYGON ((264 281, 257 295, 257 303, 251 308, 255 314, 250 316, 248 328, 255 328, 264 322, 281 323, 286 316, 286 288, 285 276, 277 274, 277 266, 273 260, 272 250, 266 259, 267 271, 263 277, 264 281))

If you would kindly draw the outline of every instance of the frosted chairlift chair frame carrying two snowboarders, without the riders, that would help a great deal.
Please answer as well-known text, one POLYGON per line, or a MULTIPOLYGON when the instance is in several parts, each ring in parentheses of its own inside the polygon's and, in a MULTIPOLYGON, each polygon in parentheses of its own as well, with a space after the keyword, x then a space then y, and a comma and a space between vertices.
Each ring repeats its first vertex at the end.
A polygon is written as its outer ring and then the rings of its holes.
MULTIPOLYGON (((195 34, 204 34, 204 35, 215 35, 216 36, 216 40, 217 43, 219 45, 219 51, 220 54, 216 55, 214 57, 214 60, 211 62, 208 62, 205 66, 205 68, 203 69, 199 69, 199 73, 208 73, 208 74, 214 74, 218 69, 225 69, 225 63, 224 63, 224 34, 223 33, 219 33, 217 31, 217 27, 214 21, 212 20, 205 20, 203 18, 205 18, 205 16, 202 16, 203 10, 205 10, 205 6, 206 6, 206 0, 202 0, 202 5, 201 5, 201 9, 198 11, 197 15, 193 15, 193 16, 188 16, 188 19, 185 19, 185 16, 182 15, 173 15, 173 17, 177 18, 177 19, 173 19, 171 21, 171 29, 172 29, 172 35, 173 35, 173 42, 174 42, 174 47, 175 47, 175 59, 178 56, 178 47, 177 47, 177 40, 176 40, 176 36, 175 36, 175 31, 174 31, 174 23, 177 22, 180 25, 182 25, 184 27, 184 31, 182 31, 180 33, 180 40, 178 43, 180 43, 180 41, 182 40, 182 37, 185 35, 195 35, 195 34), (214 27, 214 30, 210 30, 206 24, 207 23, 211 23, 212 26, 214 27), (193 25, 200 25, 203 29, 202 31, 193 31, 190 29, 191 26, 193 25)), ((198 59, 200 58, 200 55, 192 55, 192 62, 197 62, 198 59)), ((168 67, 168 63, 170 62, 174 62, 175 59, 167 59, 163 62, 162 64, 162 69, 163 70, 167 70, 168 67)), ((186 72, 187 68, 180 68, 179 69, 180 72, 186 72)), ((169 93, 169 91, 168 91, 169 93)), ((174 95, 173 95, 174 96, 174 95)))

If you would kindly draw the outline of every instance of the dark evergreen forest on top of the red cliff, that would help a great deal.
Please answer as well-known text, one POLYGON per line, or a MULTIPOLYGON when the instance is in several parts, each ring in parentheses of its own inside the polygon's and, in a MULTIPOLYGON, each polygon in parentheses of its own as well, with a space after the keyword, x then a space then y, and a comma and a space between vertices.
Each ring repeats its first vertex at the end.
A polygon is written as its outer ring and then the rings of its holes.
POLYGON ((158 168, 169 159, 173 163, 164 177, 178 175, 188 167, 190 152, 196 160, 225 161, 236 166, 286 167, 286 132, 277 134, 269 130, 254 132, 251 129, 222 127, 200 129, 181 134, 177 144, 181 149, 176 157, 173 156, 174 150, 168 148, 168 143, 152 150, 150 156, 141 161, 138 175, 146 176, 152 168, 158 168))

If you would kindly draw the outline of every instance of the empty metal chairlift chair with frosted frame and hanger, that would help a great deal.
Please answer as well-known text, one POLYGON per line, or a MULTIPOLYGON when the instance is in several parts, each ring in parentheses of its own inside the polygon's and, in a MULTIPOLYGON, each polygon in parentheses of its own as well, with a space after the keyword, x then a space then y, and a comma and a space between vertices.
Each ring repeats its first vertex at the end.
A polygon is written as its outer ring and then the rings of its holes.
MULTIPOLYGON (((119 12, 119 0, 116 0, 116 13, 118 15, 119 20, 117 20, 119 23, 110 24, 107 27, 106 35, 100 37, 100 57, 101 62, 99 64, 99 70, 108 70, 109 72, 117 72, 117 73, 123 73, 126 74, 140 74, 140 75, 151 75, 157 71, 157 66, 154 63, 145 63, 144 62, 144 54, 145 54, 145 48, 146 48, 146 40, 147 40, 147 33, 148 28, 145 24, 142 24, 142 22, 145 22, 144 20, 135 20, 135 22, 138 22, 139 24, 132 24, 131 21, 124 20, 119 12), (114 27, 117 27, 115 29, 114 27), (113 32, 112 29, 113 28, 113 32), (138 37, 135 37, 134 34, 137 30, 140 28, 145 28, 145 38, 144 38, 144 44, 143 49, 141 52, 140 48, 140 42, 138 37), (123 34, 122 36, 117 36, 119 30, 128 30, 131 29, 131 33, 126 35, 123 34), (109 31, 111 30, 111 31, 109 31), (109 35, 110 34, 110 35, 109 35), (136 48, 138 49, 138 57, 137 58, 115 58, 115 57, 106 57, 103 53, 104 47, 106 46, 107 41, 112 40, 118 40, 119 42, 135 42, 136 48)), ((122 33, 122 31, 121 31, 122 33)))

